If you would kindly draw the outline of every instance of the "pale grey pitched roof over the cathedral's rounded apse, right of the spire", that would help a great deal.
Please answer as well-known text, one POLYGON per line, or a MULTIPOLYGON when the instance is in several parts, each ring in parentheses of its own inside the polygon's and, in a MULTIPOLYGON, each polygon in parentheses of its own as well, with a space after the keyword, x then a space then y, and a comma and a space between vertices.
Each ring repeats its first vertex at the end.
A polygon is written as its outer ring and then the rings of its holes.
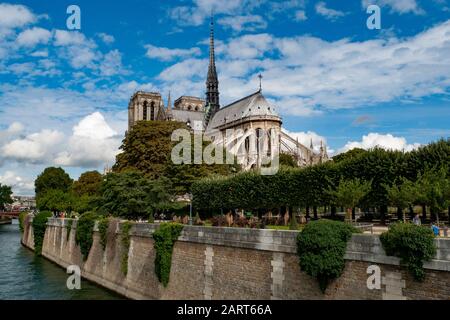
POLYGON ((228 123, 245 120, 250 117, 270 117, 281 121, 275 107, 267 102, 261 91, 257 91, 219 109, 208 124, 208 129, 218 128, 228 123))

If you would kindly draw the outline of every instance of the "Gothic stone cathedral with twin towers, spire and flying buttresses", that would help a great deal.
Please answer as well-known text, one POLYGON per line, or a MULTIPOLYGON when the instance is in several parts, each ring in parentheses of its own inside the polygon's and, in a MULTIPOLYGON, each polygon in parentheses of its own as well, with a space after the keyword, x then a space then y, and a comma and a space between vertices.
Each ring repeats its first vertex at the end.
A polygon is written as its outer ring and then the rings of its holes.
POLYGON ((169 93, 167 104, 164 105, 160 93, 138 91, 131 97, 128 105, 128 130, 137 121, 162 120, 184 122, 193 130, 202 131, 206 136, 211 137, 217 132, 223 137, 229 130, 241 132, 240 137, 236 139, 241 142, 214 138, 212 141, 223 143, 230 153, 237 156, 244 169, 260 167, 262 153, 264 156, 279 153, 291 154, 299 166, 328 161, 327 150, 323 143, 319 152, 315 152, 312 141, 307 147, 281 130, 282 119, 276 107, 265 99, 261 86, 258 91, 249 96, 223 107, 220 106, 219 96, 214 52, 214 22, 211 19, 206 99, 181 96, 172 104, 169 93), (273 140, 274 134, 277 137, 276 141, 273 140), (261 135, 272 135, 264 139, 265 148, 260 147, 261 135), (242 147, 239 147, 240 145, 242 147))

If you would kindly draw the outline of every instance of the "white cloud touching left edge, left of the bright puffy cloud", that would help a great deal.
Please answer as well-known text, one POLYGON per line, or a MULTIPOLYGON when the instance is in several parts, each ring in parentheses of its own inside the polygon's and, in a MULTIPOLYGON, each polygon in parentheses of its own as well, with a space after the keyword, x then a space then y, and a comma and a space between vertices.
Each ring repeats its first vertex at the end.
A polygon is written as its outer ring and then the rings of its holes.
POLYGON ((59 131, 44 129, 24 139, 8 142, 1 148, 2 156, 16 161, 42 163, 52 159, 53 151, 63 138, 64 135, 59 131))

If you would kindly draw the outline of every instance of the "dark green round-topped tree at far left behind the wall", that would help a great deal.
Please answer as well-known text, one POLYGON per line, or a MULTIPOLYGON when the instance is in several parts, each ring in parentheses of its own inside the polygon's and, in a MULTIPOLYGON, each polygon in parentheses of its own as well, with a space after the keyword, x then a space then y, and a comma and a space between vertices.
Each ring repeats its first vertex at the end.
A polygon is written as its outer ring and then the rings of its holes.
POLYGON ((68 192, 72 179, 62 168, 46 168, 34 181, 36 197, 39 198, 48 190, 68 192))

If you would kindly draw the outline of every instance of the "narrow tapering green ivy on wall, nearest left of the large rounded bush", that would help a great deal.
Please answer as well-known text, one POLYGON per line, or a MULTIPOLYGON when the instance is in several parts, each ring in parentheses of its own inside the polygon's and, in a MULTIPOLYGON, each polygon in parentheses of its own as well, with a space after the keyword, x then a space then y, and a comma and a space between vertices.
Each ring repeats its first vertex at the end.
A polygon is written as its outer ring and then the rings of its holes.
POLYGON ((163 223, 153 233, 155 240, 155 272, 158 280, 167 287, 169 283, 170 267, 172 265, 172 252, 175 241, 181 234, 183 225, 178 223, 163 223))

